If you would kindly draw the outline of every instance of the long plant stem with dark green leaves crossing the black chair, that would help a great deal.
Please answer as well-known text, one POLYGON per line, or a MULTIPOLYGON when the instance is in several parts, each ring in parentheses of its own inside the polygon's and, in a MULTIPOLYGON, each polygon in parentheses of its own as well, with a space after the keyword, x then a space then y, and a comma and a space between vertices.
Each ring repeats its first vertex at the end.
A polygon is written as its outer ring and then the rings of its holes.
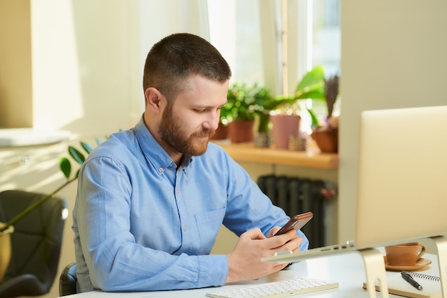
MULTIPOLYGON (((101 139, 96 138, 96 143, 98 145, 101 142, 102 142, 101 139)), ((80 144, 81 144, 81 147, 84 149, 84 151, 87 153, 87 155, 89 155, 91 153, 91 150, 93 150, 91 145, 89 145, 89 144, 87 144, 85 142, 81 142, 80 144)), ((72 146, 69 146, 68 151, 69 151, 69 155, 71 156, 71 158, 73 158, 76 161, 76 163, 79 163, 79 165, 82 165, 84 163, 84 161, 86 160, 86 157, 84 156, 84 154, 81 153, 76 148, 74 148, 72 146)), ((8 227, 11 227, 11 226, 15 225, 16 222, 19 222, 19 220, 21 220, 23 217, 28 215, 29 212, 31 212, 34 209, 36 209, 36 207, 39 207, 40 205, 42 205, 47 200, 50 200, 51 198, 55 197, 56 194, 60 190, 62 190, 64 187, 66 187, 67 185, 69 185, 70 183, 72 183, 72 182, 74 182, 75 180, 78 179, 79 170, 81 170, 81 168, 79 168, 76 171, 76 173, 74 173, 73 177, 71 177, 71 162, 70 162, 70 160, 68 158, 65 158, 65 157, 61 158, 61 160, 59 160, 59 168, 60 168, 61 172, 64 174, 64 176, 66 178, 65 183, 62 184, 61 186, 57 187, 56 190, 51 192, 49 195, 46 195, 45 197, 42 197, 40 200, 38 200, 38 201, 34 202, 33 204, 29 205, 29 207, 26 207, 25 210, 20 212, 15 217, 11 218, 11 220, 9 220, 8 222, 5 222, 4 226, 0 228, 0 232, 3 232, 8 227)))

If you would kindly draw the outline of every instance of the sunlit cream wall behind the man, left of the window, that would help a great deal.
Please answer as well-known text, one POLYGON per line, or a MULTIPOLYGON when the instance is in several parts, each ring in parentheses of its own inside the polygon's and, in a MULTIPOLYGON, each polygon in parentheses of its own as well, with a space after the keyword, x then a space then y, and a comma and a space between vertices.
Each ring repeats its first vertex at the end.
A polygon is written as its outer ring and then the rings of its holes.
MULTIPOLYGON (((31 52, 31 73, 26 69, 22 76, 32 76, 32 126, 70 130, 72 135, 71 140, 55 145, 0 148, 0 191, 51 192, 64 183, 59 158, 69 156, 66 150, 69 144, 80 148, 79 140, 84 140, 95 145, 95 137, 104 139, 120 128, 134 126, 144 111, 142 73, 149 48, 160 38, 178 31, 206 34, 204 3, 204 0, 181 1, 181 5, 175 0, 21 2, 29 5, 31 11, 31 48, 24 49, 31 52), (186 11, 191 14, 186 16, 186 11), (29 163, 23 163, 23 158, 29 163)), ((29 102, 25 104, 30 106, 29 102)), ((59 195, 66 197, 71 213, 76 183, 59 195)), ((59 272, 74 262, 71 224, 70 214, 64 227, 59 272)), ((59 276, 44 297, 58 296, 59 276)))

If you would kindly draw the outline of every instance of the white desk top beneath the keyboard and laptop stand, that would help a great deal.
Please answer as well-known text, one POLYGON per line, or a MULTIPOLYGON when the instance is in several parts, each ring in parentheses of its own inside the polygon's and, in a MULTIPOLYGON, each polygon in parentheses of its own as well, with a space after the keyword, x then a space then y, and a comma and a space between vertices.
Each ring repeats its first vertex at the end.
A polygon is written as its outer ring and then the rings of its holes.
MULTIPOLYGON (((424 258, 432 260, 430 269, 437 269, 436 255, 426 254, 424 258)), ((281 279, 293 279, 296 277, 313 277, 338 282, 338 289, 329 289, 322 292, 310 294, 299 294, 295 297, 368 297, 368 292, 362 288, 363 282, 366 282, 366 272, 363 264, 363 258, 357 252, 349 252, 331 257, 321 257, 310 259, 293 264, 286 270, 276 272, 256 281, 238 282, 227 284, 224 287, 241 287, 246 284, 260 282, 274 282, 281 279)), ((222 287, 221 289, 223 289, 222 287)), ((219 288, 213 288, 214 290, 219 288)), ((126 292, 124 293, 106 293, 101 291, 86 292, 82 294, 71 295, 69 297, 79 298, 111 298, 111 297, 131 297, 131 298, 198 298, 206 297, 209 288, 188 289, 183 291, 162 291, 162 292, 126 292)), ((379 294, 379 293, 378 293, 379 294)), ((390 297, 401 297, 390 294, 390 297)))

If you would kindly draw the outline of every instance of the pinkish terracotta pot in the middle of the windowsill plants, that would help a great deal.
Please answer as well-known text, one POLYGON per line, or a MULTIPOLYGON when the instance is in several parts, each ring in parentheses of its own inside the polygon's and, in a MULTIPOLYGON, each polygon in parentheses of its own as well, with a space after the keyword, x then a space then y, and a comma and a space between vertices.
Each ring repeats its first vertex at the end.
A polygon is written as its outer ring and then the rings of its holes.
POLYGON ((299 115, 270 115, 271 137, 277 149, 288 149, 288 140, 291 136, 298 137, 299 115))

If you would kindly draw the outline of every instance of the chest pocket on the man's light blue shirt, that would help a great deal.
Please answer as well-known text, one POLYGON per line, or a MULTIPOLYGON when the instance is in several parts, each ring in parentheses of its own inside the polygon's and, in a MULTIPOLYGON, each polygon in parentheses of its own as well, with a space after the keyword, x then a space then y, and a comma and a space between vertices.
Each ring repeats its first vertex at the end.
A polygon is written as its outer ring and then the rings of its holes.
POLYGON ((224 221, 226 208, 196 213, 196 225, 199 230, 201 247, 199 255, 208 255, 216 242, 217 233, 224 221))

